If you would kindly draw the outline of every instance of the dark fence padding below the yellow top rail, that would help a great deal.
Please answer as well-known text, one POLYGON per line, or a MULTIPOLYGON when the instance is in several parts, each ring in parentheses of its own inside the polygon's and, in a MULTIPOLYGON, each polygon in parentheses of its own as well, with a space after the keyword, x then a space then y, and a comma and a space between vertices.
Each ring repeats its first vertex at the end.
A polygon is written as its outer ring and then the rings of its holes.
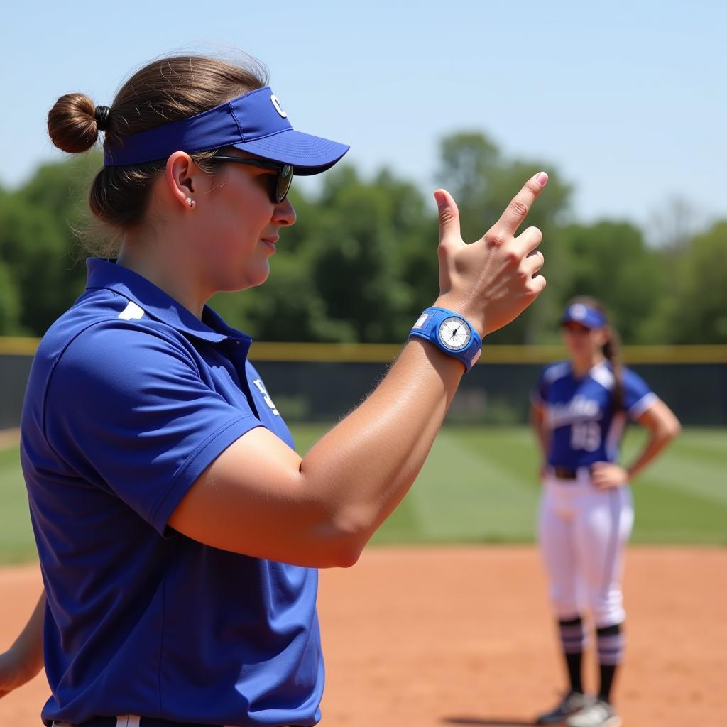
MULTIPOLYGON (((0 354, 0 429, 20 425, 31 354, 0 354)), ((254 358, 253 358, 254 361, 254 358)), ((254 361, 268 392, 290 422, 334 422, 385 375, 381 361, 254 361)), ((541 363, 484 362, 468 373, 450 422, 523 424, 541 363)), ((727 361, 630 364, 683 425, 727 425, 727 361)), ((726 443, 727 444, 727 443, 726 443)))

